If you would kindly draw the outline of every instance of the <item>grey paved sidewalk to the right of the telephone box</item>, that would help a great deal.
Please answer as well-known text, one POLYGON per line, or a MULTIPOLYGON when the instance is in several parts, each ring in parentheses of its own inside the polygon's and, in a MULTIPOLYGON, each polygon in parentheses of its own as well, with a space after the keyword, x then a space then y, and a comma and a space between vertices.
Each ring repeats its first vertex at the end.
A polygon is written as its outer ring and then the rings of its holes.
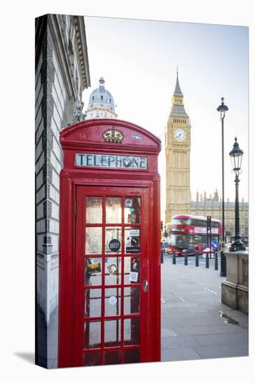
POLYGON ((161 278, 162 361, 248 356, 248 315, 221 303, 213 259, 206 269, 203 258, 164 256, 161 278))

